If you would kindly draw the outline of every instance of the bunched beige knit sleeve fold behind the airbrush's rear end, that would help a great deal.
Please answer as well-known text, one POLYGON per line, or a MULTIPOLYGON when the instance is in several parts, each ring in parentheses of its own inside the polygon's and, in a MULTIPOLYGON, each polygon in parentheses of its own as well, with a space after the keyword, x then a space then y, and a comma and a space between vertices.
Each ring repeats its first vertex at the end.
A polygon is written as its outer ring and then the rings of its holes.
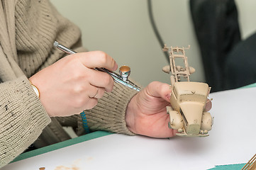
POLYGON ((49 1, 18 1, 15 17, 18 64, 28 77, 64 55, 53 47, 55 40, 73 47, 81 36, 79 28, 60 16, 49 1))

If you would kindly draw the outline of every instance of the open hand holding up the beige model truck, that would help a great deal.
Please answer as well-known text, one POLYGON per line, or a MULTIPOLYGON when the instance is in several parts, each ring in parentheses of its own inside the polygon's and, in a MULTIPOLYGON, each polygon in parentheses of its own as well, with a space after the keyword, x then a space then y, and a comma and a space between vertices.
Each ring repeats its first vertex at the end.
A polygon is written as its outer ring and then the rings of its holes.
MULTIPOLYGON (((126 124, 131 132, 149 137, 173 137, 177 130, 168 128, 169 103, 172 89, 169 84, 154 81, 133 96, 126 110, 126 124)), ((211 101, 206 103, 206 111, 211 109, 211 101)))

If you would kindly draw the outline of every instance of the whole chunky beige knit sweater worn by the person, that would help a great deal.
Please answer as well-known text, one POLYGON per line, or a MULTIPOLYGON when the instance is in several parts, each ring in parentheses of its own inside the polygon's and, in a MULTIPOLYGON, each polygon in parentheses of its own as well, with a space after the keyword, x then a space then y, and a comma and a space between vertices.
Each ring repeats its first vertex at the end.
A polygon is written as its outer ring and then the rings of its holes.
MULTIPOLYGON (((69 139, 62 125, 72 126, 82 135, 81 117, 50 119, 28 81, 65 55, 52 47, 55 40, 84 51, 80 36, 79 28, 60 16, 48 0, 1 0, 0 168, 33 142, 43 147, 69 139)), ((86 111, 89 128, 133 135, 126 128, 125 113, 135 93, 115 84, 112 93, 86 111)))

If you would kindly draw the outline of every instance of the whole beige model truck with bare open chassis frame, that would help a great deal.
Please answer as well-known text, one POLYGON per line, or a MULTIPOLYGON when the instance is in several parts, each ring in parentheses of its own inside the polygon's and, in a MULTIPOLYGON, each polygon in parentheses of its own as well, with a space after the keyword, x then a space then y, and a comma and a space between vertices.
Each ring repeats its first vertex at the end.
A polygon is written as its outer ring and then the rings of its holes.
MULTIPOLYGON (((187 48, 188 49, 188 48, 187 48)), ((172 92, 167 106, 169 128, 178 130, 178 136, 205 137, 213 125, 211 114, 205 112, 207 97, 211 88, 208 84, 189 81, 189 75, 195 72, 189 67, 184 47, 165 47, 169 52, 169 65, 164 72, 171 72, 172 92), (178 65, 181 62, 182 65, 178 65)))

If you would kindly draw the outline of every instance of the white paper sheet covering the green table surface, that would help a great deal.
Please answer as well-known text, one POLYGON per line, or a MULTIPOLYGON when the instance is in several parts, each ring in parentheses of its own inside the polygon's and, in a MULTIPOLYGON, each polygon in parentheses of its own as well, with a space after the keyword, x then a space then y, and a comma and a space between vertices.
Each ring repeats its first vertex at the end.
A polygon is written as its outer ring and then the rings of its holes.
POLYGON ((108 135, 5 166, 1 170, 191 169, 246 163, 256 153, 256 88, 210 94, 209 137, 154 139, 108 135))

